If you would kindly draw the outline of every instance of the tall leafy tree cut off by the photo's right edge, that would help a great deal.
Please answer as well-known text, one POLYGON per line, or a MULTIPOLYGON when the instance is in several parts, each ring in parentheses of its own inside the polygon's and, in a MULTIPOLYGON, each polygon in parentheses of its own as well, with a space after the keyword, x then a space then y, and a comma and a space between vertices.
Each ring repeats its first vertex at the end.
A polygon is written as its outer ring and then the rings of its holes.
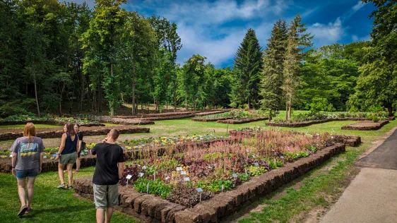
POLYGON ((381 104, 392 116, 397 100, 397 3, 384 0, 363 2, 372 2, 376 7, 369 16, 374 18, 372 46, 367 47, 367 63, 359 69, 357 92, 350 97, 349 103, 356 107, 381 104))

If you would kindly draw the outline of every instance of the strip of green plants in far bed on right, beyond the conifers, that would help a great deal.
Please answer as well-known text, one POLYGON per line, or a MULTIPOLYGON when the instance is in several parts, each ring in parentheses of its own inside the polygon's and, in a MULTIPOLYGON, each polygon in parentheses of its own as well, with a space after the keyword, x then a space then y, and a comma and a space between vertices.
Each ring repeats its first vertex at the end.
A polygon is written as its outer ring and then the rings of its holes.
POLYGON ((292 117, 290 121, 280 119, 278 117, 271 120, 272 123, 296 123, 303 121, 318 121, 324 119, 339 119, 339 118, 362 118, 370 119, 372 121, 381 121, 389 118, 389 114, 384 111, 379 112, 310 112, 307 114, 298 114, 292 117))

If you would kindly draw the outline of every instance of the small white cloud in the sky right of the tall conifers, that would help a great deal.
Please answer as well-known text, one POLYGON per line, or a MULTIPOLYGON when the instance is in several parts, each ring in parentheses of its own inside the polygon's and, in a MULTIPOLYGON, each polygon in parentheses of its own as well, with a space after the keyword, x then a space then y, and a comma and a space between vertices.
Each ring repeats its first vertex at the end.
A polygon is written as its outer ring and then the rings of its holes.
POLYGON ((335 22, 326 25, 314 23, 308 28, 308 31, 312 32, 314 43, 318 46, 336 43, 345 35, 340 18, 336 18, 335 22))

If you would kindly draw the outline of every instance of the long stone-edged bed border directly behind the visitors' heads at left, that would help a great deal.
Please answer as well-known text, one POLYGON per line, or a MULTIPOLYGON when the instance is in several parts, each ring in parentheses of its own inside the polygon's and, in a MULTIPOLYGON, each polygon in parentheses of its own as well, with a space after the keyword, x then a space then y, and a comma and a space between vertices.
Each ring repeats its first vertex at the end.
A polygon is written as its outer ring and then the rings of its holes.
MULTIPOLYGON (((121 134, 148 133, 150 128, 135 126, 95 126, 81 127, 80 130, 85 136, 88 135, 107 135, 110 129, 116 128, 121 134)), ((64 133, 63 128, 37 128, 36 135, 40 138, 61 138, 64 133)), ((0 129, 0 140, 14 140, 23 136, 22 128, 3 128, 0 129)))

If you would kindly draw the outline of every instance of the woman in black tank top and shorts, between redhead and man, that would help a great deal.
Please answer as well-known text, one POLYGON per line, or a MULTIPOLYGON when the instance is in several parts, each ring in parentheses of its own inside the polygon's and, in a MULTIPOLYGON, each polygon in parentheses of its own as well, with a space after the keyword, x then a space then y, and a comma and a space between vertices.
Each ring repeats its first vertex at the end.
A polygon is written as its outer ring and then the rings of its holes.
POLYGON ((73 164, 76 162, 77 151, 80 150, 80 143, 78 143, 78 136, 74 131, 73 123, 67 123, 64 126, 65 133, 61 138, 61 146, 59 147, 57 158, 59 159, 58 164, 58 174, 59 179, 61 180, 61 184, 58 188, 64 188, 64 168, 68 170, 68 186, 67 188, 71 189, 71 183, 73 181, 73 164))

